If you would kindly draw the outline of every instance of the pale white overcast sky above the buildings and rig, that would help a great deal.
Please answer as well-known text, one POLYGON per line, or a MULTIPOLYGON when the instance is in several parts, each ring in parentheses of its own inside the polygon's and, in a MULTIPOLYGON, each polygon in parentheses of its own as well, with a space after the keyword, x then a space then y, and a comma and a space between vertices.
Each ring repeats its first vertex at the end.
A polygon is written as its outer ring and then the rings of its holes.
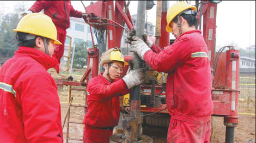
MULTIPOLYGON (((88 6, 91 1, 82 1, 88 6)), ((96 2, 96 1, 93 1, 96 2)), ((169 1, 169 6, 176 1, 169 1)), ((191 1, 192 2, 192 1, 191 1)), ((0 9, 11 11, 17 1, 1 1, 0 9)), ((33 4, 33 1, 31 2, 33 4)), ((154 1, 156 4, 156 1, 154 1)), ((71 1, 74 9, 85 12, 81 1, 71 1)), ((130 13, 137 14, 137 1, 131 1, 130 13)), ((155 25, 156 5, 148 10, 148 21, 155 25)), ((240 48, 255 45, 255 1, 222 1, 217 7, 216 47, 235 43, 240 48)), ((170 38, 174 38, 172 35, 170 38)))

